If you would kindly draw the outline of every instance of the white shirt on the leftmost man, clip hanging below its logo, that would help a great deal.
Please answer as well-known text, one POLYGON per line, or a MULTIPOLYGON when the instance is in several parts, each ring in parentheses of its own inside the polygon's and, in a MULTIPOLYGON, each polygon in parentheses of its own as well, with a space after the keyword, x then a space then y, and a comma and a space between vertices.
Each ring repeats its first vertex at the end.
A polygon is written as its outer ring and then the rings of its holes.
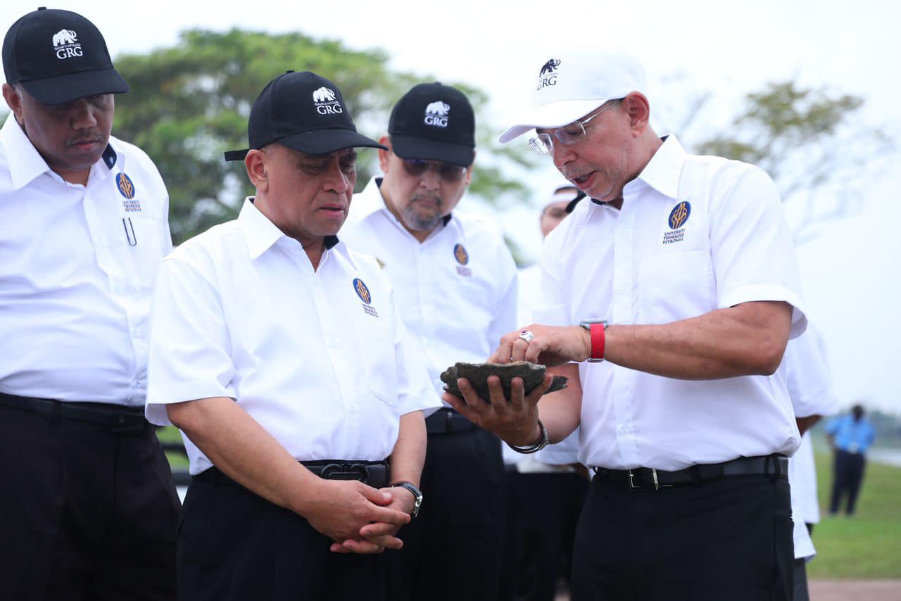
POLYGON ((114 137, 86 186, 48 167, 13 114, 0 131, 0 391, 142 406, 150 296, 172 249, 168 194, 114 137))

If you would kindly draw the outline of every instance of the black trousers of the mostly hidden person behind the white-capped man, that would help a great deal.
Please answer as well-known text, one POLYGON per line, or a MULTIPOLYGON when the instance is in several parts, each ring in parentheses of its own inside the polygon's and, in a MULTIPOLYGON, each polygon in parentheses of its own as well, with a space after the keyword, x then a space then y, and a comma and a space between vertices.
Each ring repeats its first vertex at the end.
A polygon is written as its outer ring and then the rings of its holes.
POLYGON ((507 533, 500 601, 553 601, 571 572, 588 480, 578 473, 507 472, 507 533), (556 568, 556 569, 555 569, 556 568))

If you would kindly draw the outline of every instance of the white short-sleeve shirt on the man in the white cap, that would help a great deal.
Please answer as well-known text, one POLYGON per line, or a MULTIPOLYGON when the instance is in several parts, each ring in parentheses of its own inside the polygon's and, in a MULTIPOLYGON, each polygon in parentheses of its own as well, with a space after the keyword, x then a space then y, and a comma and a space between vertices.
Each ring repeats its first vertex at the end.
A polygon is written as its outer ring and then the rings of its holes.
MULTIPOLYGON (((580 203, 545 241, 539 323, 670 323, 749 301, 795 307, 795 249, 769 177, 689 155, 669 136, 623 190, 622 211, 580 203)), ((684 469, 795 452, 783 375, 679 380, 609 362, 579 366, 579 460, 608 469, 684 469)))

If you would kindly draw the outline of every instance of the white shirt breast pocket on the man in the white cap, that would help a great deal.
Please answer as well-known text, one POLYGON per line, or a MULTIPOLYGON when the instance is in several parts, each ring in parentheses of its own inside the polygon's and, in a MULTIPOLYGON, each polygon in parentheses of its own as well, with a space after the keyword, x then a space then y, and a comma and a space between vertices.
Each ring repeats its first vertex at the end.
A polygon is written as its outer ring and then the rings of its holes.
POLYGON ((716 284, 708 250, 646 257, 639 269, 638 323, 669 323, 716 308, 716 284))

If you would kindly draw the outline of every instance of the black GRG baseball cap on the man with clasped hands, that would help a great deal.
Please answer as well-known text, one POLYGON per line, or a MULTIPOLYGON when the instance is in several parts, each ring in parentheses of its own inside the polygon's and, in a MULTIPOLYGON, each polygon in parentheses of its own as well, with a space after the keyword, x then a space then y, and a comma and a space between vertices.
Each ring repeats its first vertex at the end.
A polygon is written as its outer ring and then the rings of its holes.
MULTIPOLYGON (((345 148, 380 148, 357 133, 341 90, 311 71, 287 71, 270 81, 250 108, 250 148, 278 142, 306 154, 328 154, 345 148)), ((243 160, 250 149, 229 150, 225 160, 243 160)))

